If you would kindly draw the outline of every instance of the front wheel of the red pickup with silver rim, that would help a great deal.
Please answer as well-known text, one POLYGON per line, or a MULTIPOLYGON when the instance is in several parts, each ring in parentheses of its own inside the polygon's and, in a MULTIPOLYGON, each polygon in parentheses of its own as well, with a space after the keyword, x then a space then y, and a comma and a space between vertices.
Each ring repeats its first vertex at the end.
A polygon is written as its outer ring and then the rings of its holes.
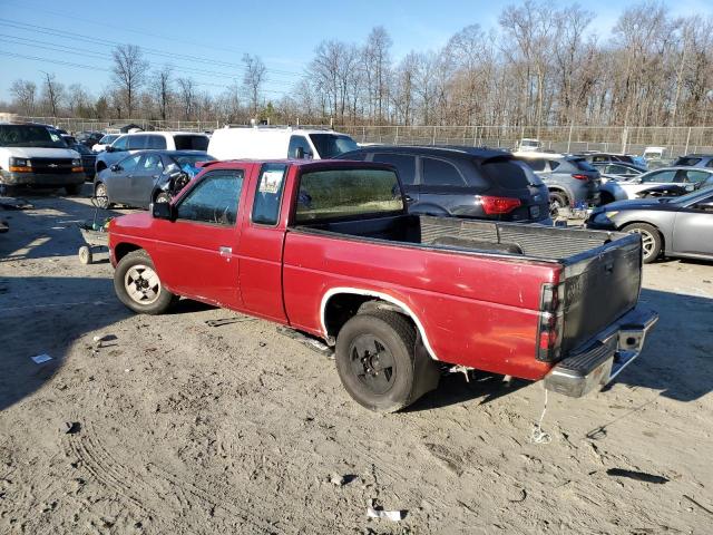
POLYGON ((154 261, 144 250, 131 251, 119 261, 114 290, 119 301, 139 314, 163 314, 178 301, 164 288, 154 261))

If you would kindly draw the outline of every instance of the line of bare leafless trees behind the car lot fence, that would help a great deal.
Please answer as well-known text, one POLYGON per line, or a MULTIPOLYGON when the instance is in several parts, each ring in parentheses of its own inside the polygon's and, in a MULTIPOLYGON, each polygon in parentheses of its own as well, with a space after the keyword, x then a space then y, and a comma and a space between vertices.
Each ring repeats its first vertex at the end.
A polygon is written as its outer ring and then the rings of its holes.
POLYGON ((322 41, 303 76, 266 97, 266 67, 245 55, 234 84, 202 89, 139 47, 113 52, 111 84, 92 97, 53 74, 14 80, 8 107, 25 116, 343 125, 709 126, 713 123, 713 18, 665 6, 625 8, 611 36, 579 4, 526 0, 494 28, 470 25, 438 50, 395 60, 383 27, 365 42, 322 41))

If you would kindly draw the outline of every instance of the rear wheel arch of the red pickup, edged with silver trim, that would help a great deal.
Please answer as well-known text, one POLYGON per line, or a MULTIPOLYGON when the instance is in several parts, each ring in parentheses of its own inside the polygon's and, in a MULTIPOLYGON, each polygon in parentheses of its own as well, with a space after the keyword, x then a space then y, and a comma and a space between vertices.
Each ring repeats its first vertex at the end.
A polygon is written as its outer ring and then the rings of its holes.
POLYGON ((322 296, 320 307, 320 321, 322 332, 328 342, 333 343, 344 323, 360 313, 369 313, 377 310, 398 312, 409 319, 433 360, 439 360, 431 348, 423 324, 416 313, 402 301, 391 295, 374 290, 355 288, 334 288, 328 290, 322 296))

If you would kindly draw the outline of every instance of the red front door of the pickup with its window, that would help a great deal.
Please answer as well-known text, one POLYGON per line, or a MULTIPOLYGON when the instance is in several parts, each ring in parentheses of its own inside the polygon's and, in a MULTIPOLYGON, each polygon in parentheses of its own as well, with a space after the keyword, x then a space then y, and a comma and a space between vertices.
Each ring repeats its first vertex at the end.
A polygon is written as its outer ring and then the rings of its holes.
POLYGON ((207 172, 176 202, 175 222, 154 220, 153 260, 170 290, 198 301, 242 308, 237 221, 245 176, 244 168, 207 172))

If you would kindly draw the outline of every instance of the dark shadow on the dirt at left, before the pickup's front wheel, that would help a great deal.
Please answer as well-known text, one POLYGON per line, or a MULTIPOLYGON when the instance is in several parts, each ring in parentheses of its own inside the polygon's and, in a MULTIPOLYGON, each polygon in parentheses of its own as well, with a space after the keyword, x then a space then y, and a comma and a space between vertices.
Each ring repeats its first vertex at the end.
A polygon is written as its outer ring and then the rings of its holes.
POLYGON ((86 333, 130 314, 114 299, 111 280, 98 278, 0 278, 0 411, 51 381, 70 352, 94 356, 92 340, 80 341, 86 333), (38 294, 47 298, 26 298, 38 294), (40 354, 51 360, 36 363, 31 358, 40 354))

